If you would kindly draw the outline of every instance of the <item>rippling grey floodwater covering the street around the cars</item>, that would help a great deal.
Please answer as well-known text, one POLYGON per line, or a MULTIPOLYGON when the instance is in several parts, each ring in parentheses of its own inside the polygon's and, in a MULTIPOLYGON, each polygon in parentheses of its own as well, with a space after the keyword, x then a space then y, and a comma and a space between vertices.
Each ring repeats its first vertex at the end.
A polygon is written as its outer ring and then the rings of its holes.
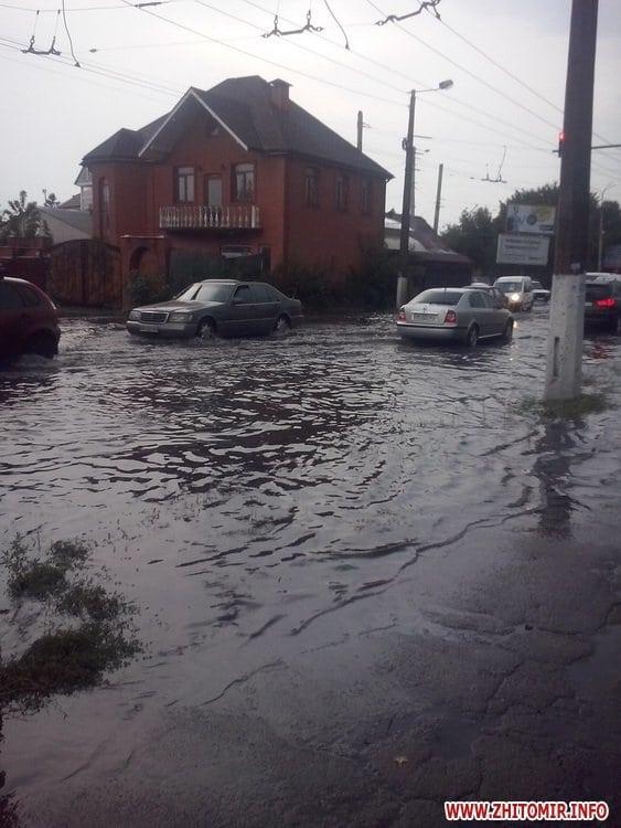
MULTIPOLYGON (((387 315, 207 346, 71 319, 55 361, 4 369, 0 541, 88 541, 93 572, 136 602, 143 646, 100 688, 4 716, 0 769, 23 824, 73 825, 66 802, 95 782, 114 788, 136 763, 142 784, 163 784, 144 754, 171 711, 212 710, 335 639, 416 628, 419 607, 394 596, 420 559, 447 561, 481 528, 585 531, 619 476, 619 454, 596 447, 621 443, 621 341, 585 342, 586 390, 608 407, 546 424, 528 400, 543 388, 547 314, 474 351, 401 343, 387 315)), ((452 571, 467 575, 457 556, 452 571)), ((2 609, 3 658, 53 622, 4 591, 2 609)), ((288 722, 301 699, 282 698, 288 722)))

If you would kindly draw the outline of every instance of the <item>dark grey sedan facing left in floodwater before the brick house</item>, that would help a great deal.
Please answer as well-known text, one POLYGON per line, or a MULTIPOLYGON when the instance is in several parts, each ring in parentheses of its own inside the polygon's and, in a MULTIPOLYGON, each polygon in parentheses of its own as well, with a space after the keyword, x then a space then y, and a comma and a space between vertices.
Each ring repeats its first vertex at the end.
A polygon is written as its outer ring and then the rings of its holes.
POLYGON ((285 333, 300 323, 302 304, 263 282, 205 279, 170 301, 130 311, 127 330, 144 337, 240 337, 285 333))

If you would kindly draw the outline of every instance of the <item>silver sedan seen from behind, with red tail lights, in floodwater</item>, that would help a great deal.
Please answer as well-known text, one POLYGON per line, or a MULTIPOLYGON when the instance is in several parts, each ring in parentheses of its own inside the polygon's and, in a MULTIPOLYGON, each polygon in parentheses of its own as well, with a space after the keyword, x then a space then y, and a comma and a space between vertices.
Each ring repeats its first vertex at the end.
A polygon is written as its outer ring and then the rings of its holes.
POLYGON ((446 287, 424 290, 397 314, 404 339, 463 342, 474 348, 480 339, 513 336, 513 315, 488 290, 446 287))

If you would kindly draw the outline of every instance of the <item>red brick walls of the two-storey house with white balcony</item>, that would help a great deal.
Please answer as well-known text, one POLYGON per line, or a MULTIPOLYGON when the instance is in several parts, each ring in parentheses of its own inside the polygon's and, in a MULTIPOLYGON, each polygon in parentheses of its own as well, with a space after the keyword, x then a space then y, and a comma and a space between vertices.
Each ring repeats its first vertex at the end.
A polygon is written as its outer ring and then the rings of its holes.
MULTIPOLYGON (((312 163, 312 162, 311 162, 312 163)), ((131 252, 148 240, 126 240, 121 236, 157 236, 164 234, 167 244, 157 245, 162 268, 164 248, 202 247, 220 253, 221 245, 249 245, 253 253, 259 247, 270 248, 271 265, 291 261, 307 267, 328 269, 335 278, 346 274, 361 262, 361 243, 382 243, 384 230, 385 182, 373 178, 372 212, 361 210, 362 174, 349 171, 349 208, 339 212, 335 206, 338 168, 320 167, 319 208, 304 204, 304 171, 308 162, 283 156, 266 156, 246 151, 207 113, 200 114, 178 141, 165 162, 93 163, 95 237, 104 237, 124 247, 124 262, 131 252), (214 131, 215 130, 215 131, 214 131), (260 210, 261 230, 240 231, 224 235, 210 231, 192 233, 162 231, 159 209, 171 206, 174 200, 175 168, 194 168, 194 203, 205 203, 205 176, 220 174, 223 179, 224 204, 232 203, 233 167, 255 164, 255 199, 260 210), (110 190, 110 225, 106 237, 100 233, 100 180, 110 190)), ((154 243, 153 243, 153 246, 154 243)), ((124 270, 127 264, 124 265, 124 270)))

